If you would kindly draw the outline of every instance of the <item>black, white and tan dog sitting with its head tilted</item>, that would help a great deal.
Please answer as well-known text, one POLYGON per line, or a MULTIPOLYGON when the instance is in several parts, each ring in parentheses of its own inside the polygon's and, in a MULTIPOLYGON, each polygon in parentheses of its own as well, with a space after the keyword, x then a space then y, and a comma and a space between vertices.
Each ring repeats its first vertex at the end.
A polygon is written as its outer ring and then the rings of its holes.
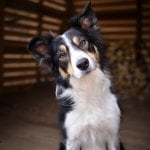
POLYGON ((62 142, 59 150, 122 150, 121 111, 111 91, 104 44, 91 3, 62 35, 35 36, 29 52, 56 81, 62 142))

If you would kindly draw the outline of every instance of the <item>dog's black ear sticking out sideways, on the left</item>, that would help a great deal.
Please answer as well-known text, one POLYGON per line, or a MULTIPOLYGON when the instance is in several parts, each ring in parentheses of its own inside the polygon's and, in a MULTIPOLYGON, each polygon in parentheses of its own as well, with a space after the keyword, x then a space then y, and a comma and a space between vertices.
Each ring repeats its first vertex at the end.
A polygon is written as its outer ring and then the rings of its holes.
POLYGON ((36 36, 29 42, 27 49, 39 61, 42 58, 49 57, 52 40, 51 33, 45 36, 36 36))

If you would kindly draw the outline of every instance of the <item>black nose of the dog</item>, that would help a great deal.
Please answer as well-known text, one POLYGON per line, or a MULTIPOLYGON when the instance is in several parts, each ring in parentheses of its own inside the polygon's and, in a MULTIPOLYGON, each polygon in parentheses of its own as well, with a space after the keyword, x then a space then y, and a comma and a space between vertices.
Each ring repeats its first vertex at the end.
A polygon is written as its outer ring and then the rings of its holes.
POLYGON ((87 58, 82 58, 77 62, 77 67, 80 70, 86 70, 89 67, 89 61, 87 58))

